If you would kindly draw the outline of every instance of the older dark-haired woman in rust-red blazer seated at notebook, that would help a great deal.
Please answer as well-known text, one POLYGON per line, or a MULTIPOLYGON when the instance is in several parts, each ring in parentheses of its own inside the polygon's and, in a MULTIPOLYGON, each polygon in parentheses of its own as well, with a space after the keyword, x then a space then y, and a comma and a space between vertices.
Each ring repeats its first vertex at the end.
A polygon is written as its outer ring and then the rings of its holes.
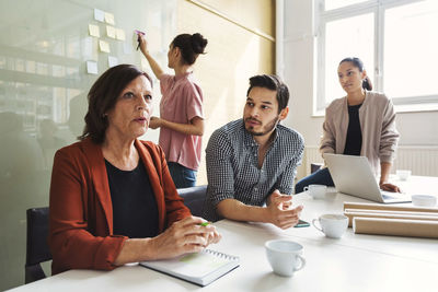
POLYGON ((108 69, 91 87, 80 141, 55 155, 53 273, 171 258, 220 240, 184 206, 161 148, 137 139, 151 114, 152 81, 134 66, 108 69))

